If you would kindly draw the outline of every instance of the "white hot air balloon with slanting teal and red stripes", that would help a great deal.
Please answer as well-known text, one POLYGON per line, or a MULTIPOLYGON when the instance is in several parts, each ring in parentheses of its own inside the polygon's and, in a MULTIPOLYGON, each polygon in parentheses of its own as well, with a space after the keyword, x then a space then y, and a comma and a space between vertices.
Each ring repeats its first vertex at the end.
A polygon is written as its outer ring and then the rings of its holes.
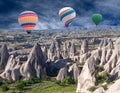
POLYGON ((64 7, 59 11, 60 20, 64 23, 65 27, 68 28, 69 24, 75 19, 76 12, 71 7, 64 7))

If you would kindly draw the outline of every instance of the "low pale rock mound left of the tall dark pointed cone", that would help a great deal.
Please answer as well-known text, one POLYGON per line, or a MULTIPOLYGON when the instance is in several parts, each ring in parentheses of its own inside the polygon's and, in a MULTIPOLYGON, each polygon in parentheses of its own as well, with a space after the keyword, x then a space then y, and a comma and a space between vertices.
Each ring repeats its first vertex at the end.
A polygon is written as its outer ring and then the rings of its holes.
POLYGON ((19 80, 21 78, 20 66, 20 62, 17 62, 15 60, 15 56, 11 55, 8 59, 4 72, 0 74, 0 77, 11 82, 19 80))

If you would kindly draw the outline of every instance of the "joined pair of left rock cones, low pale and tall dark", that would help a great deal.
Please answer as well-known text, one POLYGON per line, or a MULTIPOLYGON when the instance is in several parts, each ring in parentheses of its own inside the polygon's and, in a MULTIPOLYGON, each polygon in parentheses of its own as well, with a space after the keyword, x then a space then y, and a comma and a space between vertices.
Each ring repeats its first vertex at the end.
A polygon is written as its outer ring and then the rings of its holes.
POLYGON ((20 78, 28 80, 32 76, 41 78, 44 74, 46 74, 45 56, 37 43, 29 54, 27 62, 22 63, 16 55, 11 55, 0 77, 8 81, 17 81, 20 78))

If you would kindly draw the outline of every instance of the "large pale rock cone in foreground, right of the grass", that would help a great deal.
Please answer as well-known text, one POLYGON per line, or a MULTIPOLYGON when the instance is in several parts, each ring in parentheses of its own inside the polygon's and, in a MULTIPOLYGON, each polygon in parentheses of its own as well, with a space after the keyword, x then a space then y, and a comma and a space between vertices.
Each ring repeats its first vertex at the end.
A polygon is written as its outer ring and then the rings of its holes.
POLYGON ((95 86, 95 74, 97 65, 98 62, 94 57, 90 57, 86 60, 81 74, 78 77, 78 86, 76 92, 86 92, 89 87, 95 86))

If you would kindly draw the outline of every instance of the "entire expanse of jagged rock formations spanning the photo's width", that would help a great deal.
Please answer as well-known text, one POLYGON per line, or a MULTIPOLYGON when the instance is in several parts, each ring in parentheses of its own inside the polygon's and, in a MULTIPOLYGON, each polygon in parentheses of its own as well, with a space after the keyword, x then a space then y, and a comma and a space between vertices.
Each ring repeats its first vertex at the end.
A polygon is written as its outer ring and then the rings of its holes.
POLYGON ((7 47, 4 45, 1 48, 0 67, 5 70, 0 77, 9 81, 16 81, 20 78, 28 80, 32 76, 41 78, 46 74, 47 68, 49 74, 57 74, 57 80, 63 81, 70 76, 77 81, 77 92, 90 93, 88 88, 97 84, 96 74, 109 73, 109 80, 118 80, 107 91, 98 88, 92 93, 112 93, 113 91, 119 93, 117 86, 119 86, 120 77, 120 38, 116 42, 112 39, 103 39, 95 50, 89 50, 88 41, 83 40, 81 52, 77 55, 76 52, 75 42, 66 41, 60 45, 58 41, 54 41, 49 49, 44 47, 43 51, 38 43, 35 44, 28 57, 27 55, 20 56, 18 53, 13 53, 9 57, 7 47), (79 64, 83 65, 80 69, 78 62, 74 60, 76 56, 79 57, 79 64), (22 61, 25 62, 22 63, 22 61), (104 69, 98 72, 99 66, 104 69))

